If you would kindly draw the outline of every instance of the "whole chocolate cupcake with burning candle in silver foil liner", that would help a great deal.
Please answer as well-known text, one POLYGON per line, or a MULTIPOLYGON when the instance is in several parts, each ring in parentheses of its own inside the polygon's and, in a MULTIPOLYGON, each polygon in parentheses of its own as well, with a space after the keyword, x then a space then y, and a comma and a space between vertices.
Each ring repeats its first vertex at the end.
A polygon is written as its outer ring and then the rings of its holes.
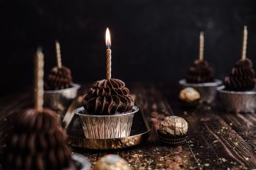
POLYGON ((110 32, 106 32, 107 79, 96 81, 83 98, 81 108, 75 110, 80 116, 85 137, 110 139, 127 137, 132 128, 134 99, 124 82, 111 78, 110 32))

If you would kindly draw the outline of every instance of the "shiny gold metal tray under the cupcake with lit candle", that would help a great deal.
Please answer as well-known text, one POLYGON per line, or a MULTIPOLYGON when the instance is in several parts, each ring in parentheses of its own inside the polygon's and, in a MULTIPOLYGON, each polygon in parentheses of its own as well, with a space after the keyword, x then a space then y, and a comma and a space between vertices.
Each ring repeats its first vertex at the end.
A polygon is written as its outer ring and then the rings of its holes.
POLYGON ((139 112, 134 115, 129 137, 86 139, 80 123, 80 117, 73 113, 75 108, 80 107, 81 101, 82 96, 73 101, 63 119, 62 127, 67 132, 68 144, 72 147, 81 147, 84 149, 122 149, 142 144, 149 138, 152 124, 149 116, 144 114, 140 109, 139 112))

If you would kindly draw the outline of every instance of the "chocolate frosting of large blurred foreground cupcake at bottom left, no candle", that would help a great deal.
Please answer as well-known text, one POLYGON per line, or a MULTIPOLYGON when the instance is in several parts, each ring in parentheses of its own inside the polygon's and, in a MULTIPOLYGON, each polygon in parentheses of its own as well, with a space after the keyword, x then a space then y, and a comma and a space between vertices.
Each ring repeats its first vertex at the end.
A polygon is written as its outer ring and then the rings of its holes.
POLYGON ((16 118, 4 150, 4 169, 65 169, 71 153, 55 112, 29 109, 16 118))

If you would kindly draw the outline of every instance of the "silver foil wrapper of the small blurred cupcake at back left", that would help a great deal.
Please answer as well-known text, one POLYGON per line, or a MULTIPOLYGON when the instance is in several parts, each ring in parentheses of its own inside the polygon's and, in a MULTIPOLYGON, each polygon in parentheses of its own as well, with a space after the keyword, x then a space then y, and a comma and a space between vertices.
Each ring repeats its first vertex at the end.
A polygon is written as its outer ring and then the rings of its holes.
POLYGON ((44 91, 44 106, 54 111, 65 111, 70 103, 78 96, 79 84, 68 89, 44 91))

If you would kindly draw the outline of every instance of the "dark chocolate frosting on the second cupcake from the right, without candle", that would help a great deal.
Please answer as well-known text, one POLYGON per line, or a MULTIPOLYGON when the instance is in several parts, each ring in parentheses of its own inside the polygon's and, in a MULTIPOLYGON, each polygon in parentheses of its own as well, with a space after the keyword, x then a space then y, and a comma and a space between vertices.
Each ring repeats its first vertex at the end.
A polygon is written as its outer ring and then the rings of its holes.
POLYGON ((186 76, 187 83, 207 83, 213 82, 213 71, 206 60, 195 60, 193 66, 188 70, 186 76))

